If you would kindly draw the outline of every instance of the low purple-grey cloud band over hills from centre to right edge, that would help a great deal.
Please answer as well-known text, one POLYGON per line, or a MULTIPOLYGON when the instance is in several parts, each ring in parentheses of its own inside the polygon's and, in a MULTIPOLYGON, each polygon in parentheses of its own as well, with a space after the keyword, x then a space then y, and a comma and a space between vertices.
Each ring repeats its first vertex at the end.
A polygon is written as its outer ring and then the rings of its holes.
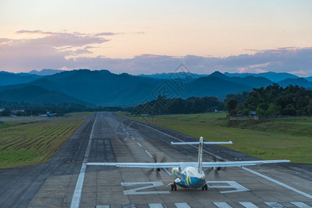
POLYGON ((129 59, 106 57, 76 58, 68 60, 71 67, 89 69, 109 69, 115 73, 128 72, 162 73, 171 72, 183 62, 193 73, 212 73, 214 71, 232 73, 261 73, 265 71, 296 73, 312 76, 312 47, 268 49, 254 55, 235 55, 226 58, 186 55, 142 54, 129 59), (301 70, 301 71, 300 71, 301 70))

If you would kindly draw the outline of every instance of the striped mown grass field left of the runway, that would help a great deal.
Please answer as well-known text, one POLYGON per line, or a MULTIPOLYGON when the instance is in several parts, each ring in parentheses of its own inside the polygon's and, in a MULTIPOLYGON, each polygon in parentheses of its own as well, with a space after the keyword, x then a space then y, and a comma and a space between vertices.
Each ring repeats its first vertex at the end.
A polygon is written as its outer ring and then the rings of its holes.
POLYGON ((53 118, 53 121, 1 122, 0 168, 46 162, 64 141, 86 121, 85 116, 92 114, 69 114, 67 118, 53 118))

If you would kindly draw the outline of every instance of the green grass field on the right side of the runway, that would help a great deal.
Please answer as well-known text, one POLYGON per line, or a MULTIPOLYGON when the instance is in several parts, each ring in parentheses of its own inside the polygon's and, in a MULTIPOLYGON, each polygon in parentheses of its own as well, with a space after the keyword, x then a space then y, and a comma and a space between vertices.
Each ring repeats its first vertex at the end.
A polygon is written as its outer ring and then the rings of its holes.
POLYGON ((224 145, 259 159, 290 159, 312 164, 312 118, 231 121, 225 113, 177 114, 157 117, 132 117, 171 128, 206 141, 233 141, 224 145), (220 133, 220 135, 218 134, 220 133))

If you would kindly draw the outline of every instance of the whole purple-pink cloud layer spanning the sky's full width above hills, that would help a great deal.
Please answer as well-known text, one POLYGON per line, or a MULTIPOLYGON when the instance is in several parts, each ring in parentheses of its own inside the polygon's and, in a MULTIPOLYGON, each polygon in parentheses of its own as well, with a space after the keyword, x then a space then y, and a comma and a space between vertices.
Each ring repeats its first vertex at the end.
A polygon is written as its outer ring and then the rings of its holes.
MULTIPOLYGON (((312 76, 312 47, 284 47, 253 50, 254 54, 214 56, 171 56, 141 54, 133 58, 107 58, 105 55, 85 57, 90 49, 109 42, 104 36, 119 33, 60 33, 46 31, 17 31, 18 34, 41 34, 43 37, 13 40, 0 38, 0 70, 31 71, 33 69, 108 69, 114 73, 162 73, 171 72, 184 63, 193 73, 263 71, 288 72, 299 76, 312 76)), ((247 50, 247 49, 244 49, 247 50)))

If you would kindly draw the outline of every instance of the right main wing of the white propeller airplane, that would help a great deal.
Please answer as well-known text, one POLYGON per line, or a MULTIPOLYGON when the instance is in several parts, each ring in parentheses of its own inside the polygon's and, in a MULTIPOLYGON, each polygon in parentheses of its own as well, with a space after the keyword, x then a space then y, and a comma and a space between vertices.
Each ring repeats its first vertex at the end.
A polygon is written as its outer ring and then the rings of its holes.
POLYGON ((216 168, 216 167, 240 167, 240 166, 257 166, 262 164, 291 162, 290 160, 255 160, 255 161, 234 161, 234 162, 202 162, 203 168, 216 168))

